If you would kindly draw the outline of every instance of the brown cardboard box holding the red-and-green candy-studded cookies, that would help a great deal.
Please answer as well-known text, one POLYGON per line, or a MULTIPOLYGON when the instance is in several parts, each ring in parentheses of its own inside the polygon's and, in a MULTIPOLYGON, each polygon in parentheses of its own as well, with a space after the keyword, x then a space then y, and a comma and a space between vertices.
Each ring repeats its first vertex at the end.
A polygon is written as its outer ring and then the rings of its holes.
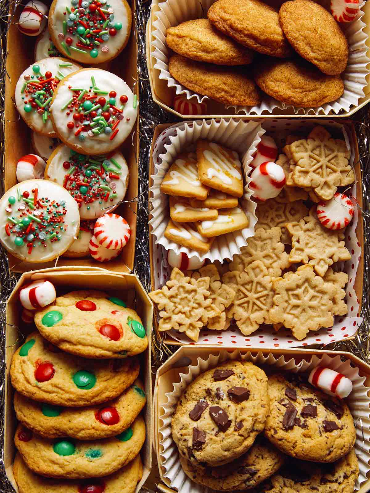
POLYGON ((118 296, 127 301, 134 308, 146 328, 149 345, 145 352, 139 355, 140 375, 144 382, 147 403, 143 411, 146 424, 146 439, 141 449, 141 458, 144 471, 141 481, 137 485, 136 492, 144 484, 152 467, 152 378, 151 378, 151 332, 153 319, 153 304, 146 294, 142 284, 134 274, 113 273, 103 269, 87 268, 81 270, 78 267, 64 267, 55 269, 42 269, 28 272, 21 276, 6 303, 6 330, 5 330, 5 429, 4 429, 4 467, 14 489, 18 493, 12 471, 12 463, 15 455, 14 433, 16 418, 13 407, 14 390, 10 382, 10 363, 14 352, 21 346, 22 340, 19 333, 27 336, 34 331, 33 324, 25 324, 21 320, 21 310, 18 293, 23 284, 39 279, 47 279, 52 282, 57 290, 57 295, 72 290, 98 289, 108 291, 112 296, 118 296))

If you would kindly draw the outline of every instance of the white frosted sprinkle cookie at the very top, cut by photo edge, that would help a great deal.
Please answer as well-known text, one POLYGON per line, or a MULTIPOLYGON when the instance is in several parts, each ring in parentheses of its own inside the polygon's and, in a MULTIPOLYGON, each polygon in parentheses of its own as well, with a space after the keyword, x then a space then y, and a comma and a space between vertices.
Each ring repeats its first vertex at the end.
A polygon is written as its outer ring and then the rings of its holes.
POLYGON ((54 0, 49 31, 57 49, 91 65, 115 58, 126 46, 132 13, 126 0, 54 0))

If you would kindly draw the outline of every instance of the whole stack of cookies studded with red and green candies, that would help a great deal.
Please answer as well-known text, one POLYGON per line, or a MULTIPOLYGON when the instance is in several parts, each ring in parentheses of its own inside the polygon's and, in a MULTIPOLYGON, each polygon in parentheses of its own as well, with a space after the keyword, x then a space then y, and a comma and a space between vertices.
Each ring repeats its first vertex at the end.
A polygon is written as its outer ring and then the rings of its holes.
POLYGON ((34 323, 10 368, 20 493, 134 493, 145 441, 140 317, 120 298, 73 291, 34 323))

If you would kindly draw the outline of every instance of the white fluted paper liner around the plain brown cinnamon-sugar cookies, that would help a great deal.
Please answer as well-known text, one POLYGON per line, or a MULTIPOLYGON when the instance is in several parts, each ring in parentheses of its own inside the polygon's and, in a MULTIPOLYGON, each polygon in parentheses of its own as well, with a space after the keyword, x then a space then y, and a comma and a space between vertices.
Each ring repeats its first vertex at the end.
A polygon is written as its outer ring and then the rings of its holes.
MULTIPOLYGON (((166 44, 167 29, 172 26, 207 16, 209 7, 216 0, 166 0, 156 5, 158 11, 153 15, 151 56, 154 69, 160 71, 159 78, 166 80, 168 87, 174 87, 176 94, 185 94, 188 99, 196 98, 201 103, 206 96, 194 93, 177 82, 168 71, 168 58, 170 50, 166 44)), ((263 115, 272 113, 273 109, 294 111, 302 115, 328 115, 330 112, 338 114, 340 110, 348 111, 351 106, 357 106, 360 98, 365 96, 364 88, 367 85, 366 76, 370 73, 367 56, 368 47, 366 40, 368 35, 364 32, 365 23, 362 21, 365 2, 360 3, 358 16, 353 22, 341 23, 341 28, 347 37, 349 45, 348 65, 341 74, 344 82, 343 95, 332 103, 327 103, 316 108, 300 108, 298 106, 281 103, 269 96, 265 96, 258 106, 230 106, 235 108, 235 113, 246 115, 263 115)))

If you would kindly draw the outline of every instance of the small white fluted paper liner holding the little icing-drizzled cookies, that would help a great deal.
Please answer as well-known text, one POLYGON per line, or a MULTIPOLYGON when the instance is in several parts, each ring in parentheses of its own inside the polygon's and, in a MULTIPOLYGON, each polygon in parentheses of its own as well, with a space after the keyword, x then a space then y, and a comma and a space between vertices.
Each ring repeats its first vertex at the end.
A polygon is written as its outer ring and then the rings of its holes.
POLYGON ((185 252, 189 257, 196 256, 209 259, 211 262, 232 259, 235 253, 240 253, 240 248, 247 245, 247 239, 254 235, 254 226, 257 222, 255 215, 256 203, 251 200, 251 190, 248 183, 251 171, 249 163, 257 150, 257 144, 265 130, 258 122, 225 120, 200 120, 183 122, 166 129, 157 139, 153 150, 155 174, 152 176, 153 185, 149 188, 152 234, 155 243, 162 245, 166 250, 171 249, 176 253, 185 252), (207 253, 200 253, 185 246, 177 245, 165 238, 164 233, 169 220, 168 195, 160 190, 160 185, 170 165, 176 156, 185 148, 194 144, 199 139, 218 142, 235 150, 240 157, 244 172, 244 194, 239 203, 249 218, 249 226, 239 231, 216 237, 207 253))

